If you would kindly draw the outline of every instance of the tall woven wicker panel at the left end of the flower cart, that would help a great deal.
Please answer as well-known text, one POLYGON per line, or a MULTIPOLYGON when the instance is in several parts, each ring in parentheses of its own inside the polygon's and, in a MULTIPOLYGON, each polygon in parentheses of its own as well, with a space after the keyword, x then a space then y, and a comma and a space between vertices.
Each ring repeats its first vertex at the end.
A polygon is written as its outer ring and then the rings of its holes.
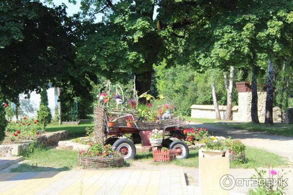
POLYGON ((104 122, 105 122, 105 110, 102 105, 96 105, 94 107, 94 142, 104 144, 104 122))

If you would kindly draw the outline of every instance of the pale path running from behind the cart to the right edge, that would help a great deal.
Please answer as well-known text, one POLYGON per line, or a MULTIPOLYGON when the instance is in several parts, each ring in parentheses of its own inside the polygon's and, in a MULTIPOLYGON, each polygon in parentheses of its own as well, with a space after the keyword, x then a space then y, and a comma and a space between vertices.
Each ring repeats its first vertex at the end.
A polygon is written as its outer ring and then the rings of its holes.
POLYGON ((263 132, 233 129, 219 125, 190 124, 196 128, 207 128, 209 133, 214 136, 231 136, 234 139, 240 139, 248 146, 263 148, 293 162, 293 137, 274 136, 263 132))

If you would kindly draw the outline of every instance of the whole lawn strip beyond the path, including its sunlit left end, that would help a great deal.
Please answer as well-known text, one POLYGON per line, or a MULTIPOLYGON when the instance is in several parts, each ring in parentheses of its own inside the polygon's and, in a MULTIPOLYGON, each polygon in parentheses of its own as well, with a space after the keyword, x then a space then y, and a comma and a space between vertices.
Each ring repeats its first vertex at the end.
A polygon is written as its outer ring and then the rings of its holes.
POLYGON ((215 120, 209 118, 191 118, 184 117, 187 121, 197 123, 209 123, 212 125, 221 125, 235 129, 245 129, 250 131, 267 132, 273 135, 293 137, 293 124, 274 123, 273 125, 266 125, 263 123, 255 124, 252 122, 232 122, 225 120, 215 120))

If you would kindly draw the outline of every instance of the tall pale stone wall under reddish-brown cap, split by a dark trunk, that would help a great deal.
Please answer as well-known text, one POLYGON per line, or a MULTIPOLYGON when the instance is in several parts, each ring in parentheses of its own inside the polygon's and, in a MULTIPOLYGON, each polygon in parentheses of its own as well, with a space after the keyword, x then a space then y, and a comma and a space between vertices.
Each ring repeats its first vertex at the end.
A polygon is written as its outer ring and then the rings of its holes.
MULTIPOLYGON (((260 122, 264 122, 267 93, 257 92, 257 95, 258 119, 260 122)), ((238 93, 238 113, 233 115, 233 120, 251 121, 251 98, 251 92, 238 93)))

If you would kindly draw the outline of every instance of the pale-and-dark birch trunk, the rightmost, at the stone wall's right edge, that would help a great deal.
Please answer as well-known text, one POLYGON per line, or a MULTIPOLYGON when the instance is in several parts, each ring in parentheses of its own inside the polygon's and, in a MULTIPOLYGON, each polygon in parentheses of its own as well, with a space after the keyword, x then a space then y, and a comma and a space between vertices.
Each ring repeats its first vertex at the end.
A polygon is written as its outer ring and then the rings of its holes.
POLYGON ((272 61, 269 60, 268 65, 268 76, 267 76, 267 99, 266 99, 266 113, 265 113, 265 124, 273 124, 272 120, 272 106, 273 106, 273 66, 272 61))

